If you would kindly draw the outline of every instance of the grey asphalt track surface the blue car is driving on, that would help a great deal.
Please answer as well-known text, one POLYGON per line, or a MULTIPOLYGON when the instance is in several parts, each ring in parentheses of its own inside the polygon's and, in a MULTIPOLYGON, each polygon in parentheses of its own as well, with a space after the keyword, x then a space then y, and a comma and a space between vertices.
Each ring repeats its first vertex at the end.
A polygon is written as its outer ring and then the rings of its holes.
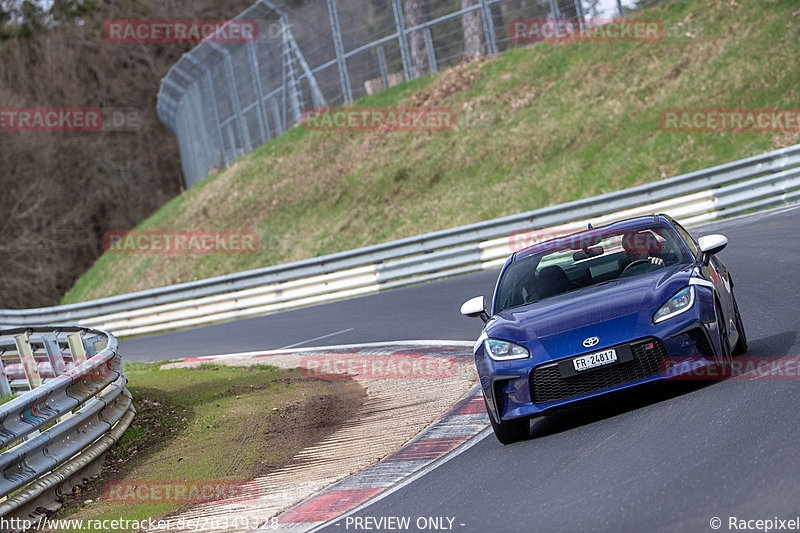
MULTIPOLYGON (((800 356, 798 227, 800 208, 792 208, 693 230, 730 241, 720 257, 734 277, 747 357, 800 356)), ((292 344, 473 340, 480 322, 458 308, 488 296, 496 274, 131 339, 122 354, 163 360, 292 344)), ((730 517, 798 516, 800 381, 762 379, 659 384, 537 419, 531 438, 510 446, 490 435, 354 518, 410 517, 411 531, 420 517, 449 517, 457 531, 640 532, 714 531, 715 517, 717 531, 734 531, 730 517)), ((344 521, 326 529, 366 530, 344 521)))

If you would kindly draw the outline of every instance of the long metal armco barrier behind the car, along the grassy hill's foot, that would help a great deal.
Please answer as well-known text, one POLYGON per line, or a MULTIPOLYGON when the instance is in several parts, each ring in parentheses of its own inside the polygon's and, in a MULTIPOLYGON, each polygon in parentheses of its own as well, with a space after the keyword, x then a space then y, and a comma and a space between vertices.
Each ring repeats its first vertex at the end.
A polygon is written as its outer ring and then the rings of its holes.
POLYGON ((800 145, 593 198, 248 272, 59 307, 0 323, 77 322, 136 335, 270 313, 496 268, 518 235, 558 234, 666 212, 687 225, 800 199, 800 145))

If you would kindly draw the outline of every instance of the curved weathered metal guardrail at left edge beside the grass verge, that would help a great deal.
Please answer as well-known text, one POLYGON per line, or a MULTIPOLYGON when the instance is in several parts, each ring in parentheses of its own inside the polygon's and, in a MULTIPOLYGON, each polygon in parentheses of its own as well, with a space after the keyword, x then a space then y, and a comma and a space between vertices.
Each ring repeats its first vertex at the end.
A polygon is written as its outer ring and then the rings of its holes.
POLYGON ((0 330, 0 389, 20 393, 0 405, 0 517, 52 507, 99 471, 135 413, 117 349, 94 329, 0 330))

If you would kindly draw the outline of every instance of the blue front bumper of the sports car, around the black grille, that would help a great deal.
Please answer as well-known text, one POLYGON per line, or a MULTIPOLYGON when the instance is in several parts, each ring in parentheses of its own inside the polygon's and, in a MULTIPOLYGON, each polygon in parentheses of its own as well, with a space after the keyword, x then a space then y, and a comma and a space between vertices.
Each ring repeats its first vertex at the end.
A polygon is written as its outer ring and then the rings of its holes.
POLYGON ((494 361, 483 352, 482 345, 478 346, 475 362, 490 416, 495 420, 541 416, 608 393, 680 376, 682 368, 696 371, 718 363, 713 317, 704 314, 704 306, 698 304, 673 319, 644 328, 638 316, 610 321, 603 324, 604 329, 629 331, 630 338, 612 336, 609 344, 559 358, 541 357, 534 350, 528 359, 494 361), (629 356, 626 361, 620 359, 569 377, 559 373, 561 361, 620 346, 631 347, 632 359, 629 356), (693 364, 685 365, 687 361, 693 364), (683 364, 674 366, 679 362, 683 364))

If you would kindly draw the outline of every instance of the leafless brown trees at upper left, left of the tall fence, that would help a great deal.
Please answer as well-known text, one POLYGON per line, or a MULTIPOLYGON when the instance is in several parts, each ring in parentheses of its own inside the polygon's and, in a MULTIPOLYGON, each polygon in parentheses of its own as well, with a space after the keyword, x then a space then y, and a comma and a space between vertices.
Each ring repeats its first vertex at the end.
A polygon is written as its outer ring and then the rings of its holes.
POLYGON ((177 142, 155 103, 161 78, 191 45, 109 43, 103 22, 180 13, 220 19, 251 3, 109 0, 73 24, 81 13, 67 8, 83 3, 57 0, 66 22, 5 28, 0 107, 133 109, 140 122, 138 133, 0 128, 1 308, 57 304, 102 253, 106 231, 134 227, 181 189, 177 142))

